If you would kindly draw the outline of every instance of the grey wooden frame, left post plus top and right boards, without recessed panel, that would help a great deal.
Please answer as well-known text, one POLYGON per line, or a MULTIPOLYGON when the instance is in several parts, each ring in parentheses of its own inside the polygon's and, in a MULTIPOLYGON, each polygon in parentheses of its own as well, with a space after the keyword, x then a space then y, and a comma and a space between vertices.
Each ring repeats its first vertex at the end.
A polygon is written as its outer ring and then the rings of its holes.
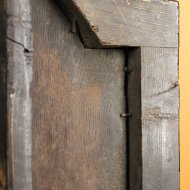
MULTIPOLYGON (((85 47, 130 47, 129 189, 179 189, 178 3, 56 2, 67 10, 73 31, 79 32, 85 47)), ((7 4, 8 186, 32 190, 31 5, 29 0, 7 4)))

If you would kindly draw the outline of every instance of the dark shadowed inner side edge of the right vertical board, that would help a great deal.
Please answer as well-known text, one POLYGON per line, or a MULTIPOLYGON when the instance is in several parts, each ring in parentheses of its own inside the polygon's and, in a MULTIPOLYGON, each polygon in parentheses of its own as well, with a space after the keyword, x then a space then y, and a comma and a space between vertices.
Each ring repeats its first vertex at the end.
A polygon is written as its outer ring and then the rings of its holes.
POLYGON ((141 49, 128 51, 127 104, 132 116, 128 120, 128 178, 130 190, 142 187, 142 122, 141 122, 141 49))

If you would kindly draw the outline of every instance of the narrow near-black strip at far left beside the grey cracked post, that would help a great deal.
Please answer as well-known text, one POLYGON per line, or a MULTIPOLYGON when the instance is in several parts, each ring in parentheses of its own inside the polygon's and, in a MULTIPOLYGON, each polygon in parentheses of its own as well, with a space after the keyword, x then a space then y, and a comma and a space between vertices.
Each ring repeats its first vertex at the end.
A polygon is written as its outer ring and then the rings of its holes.
POLYGON ((0 190, 7 187, 7 129, 6 129, 6 5, 0 1, 0 190))

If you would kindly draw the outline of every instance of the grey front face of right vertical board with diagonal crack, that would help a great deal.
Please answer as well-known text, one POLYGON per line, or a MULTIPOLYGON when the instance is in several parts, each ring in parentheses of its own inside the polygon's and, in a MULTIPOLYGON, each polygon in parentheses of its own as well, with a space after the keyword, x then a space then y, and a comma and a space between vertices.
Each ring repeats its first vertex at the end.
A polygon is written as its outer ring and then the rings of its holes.
POLYGON ((178 49, 141 49, 143 189, 179 190, 178 49))

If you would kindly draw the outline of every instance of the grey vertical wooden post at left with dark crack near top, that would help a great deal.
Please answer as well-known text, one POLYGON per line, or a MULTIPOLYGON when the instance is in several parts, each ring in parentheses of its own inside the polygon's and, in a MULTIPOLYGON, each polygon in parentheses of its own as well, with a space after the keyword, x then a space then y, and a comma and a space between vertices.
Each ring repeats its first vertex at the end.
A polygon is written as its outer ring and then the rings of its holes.
POLYGON ((7 1, 8 188, 32 190, 30 1, 7 1))

